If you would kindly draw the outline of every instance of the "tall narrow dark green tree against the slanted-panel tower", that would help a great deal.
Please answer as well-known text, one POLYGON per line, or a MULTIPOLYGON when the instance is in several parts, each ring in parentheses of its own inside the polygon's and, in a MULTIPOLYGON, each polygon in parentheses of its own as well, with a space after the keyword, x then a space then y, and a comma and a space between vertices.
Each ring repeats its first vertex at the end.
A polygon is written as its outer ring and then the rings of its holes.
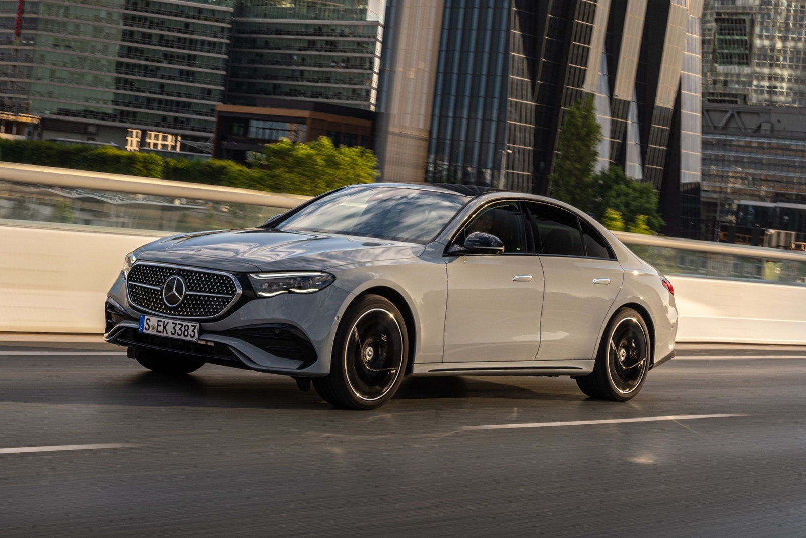
POLYGON ((593 99, 577 101, 563 112, 559 131, 555 172, 550 176, 551 195, 586 213, 594 210, 596 179, 593 171, 599 158, 601 128, 596 121, 593 99))

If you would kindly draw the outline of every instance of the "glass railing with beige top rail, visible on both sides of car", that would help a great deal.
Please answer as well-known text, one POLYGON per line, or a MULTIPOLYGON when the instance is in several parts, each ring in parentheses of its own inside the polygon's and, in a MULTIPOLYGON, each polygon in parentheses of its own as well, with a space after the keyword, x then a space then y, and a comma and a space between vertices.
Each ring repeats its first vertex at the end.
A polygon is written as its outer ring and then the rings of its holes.
MULTIPOLYGON (((307 197, 0 163, 0 225, 160 234, 253 227, 307 197)), ((669 276, 806 286, 806 252, 617 232, 669 276)))

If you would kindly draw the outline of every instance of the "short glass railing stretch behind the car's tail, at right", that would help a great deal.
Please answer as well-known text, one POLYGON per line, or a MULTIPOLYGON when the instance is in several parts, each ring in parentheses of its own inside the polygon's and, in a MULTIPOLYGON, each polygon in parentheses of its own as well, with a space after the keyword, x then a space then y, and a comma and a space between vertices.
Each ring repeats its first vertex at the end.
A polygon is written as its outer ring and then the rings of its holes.
POLYGON ((806 252, 617 233, 667 275, 806 286, 806 252))

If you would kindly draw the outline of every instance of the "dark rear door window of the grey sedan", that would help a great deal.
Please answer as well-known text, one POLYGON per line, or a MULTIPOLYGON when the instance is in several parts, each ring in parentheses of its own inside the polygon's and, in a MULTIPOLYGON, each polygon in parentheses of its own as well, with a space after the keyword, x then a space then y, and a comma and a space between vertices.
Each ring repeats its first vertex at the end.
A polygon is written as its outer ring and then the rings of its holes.
POLYGON ((534 246, 538 253, 554 256, 584 256, 585 248, 576 215, 557 206, 529 203, 534 246))

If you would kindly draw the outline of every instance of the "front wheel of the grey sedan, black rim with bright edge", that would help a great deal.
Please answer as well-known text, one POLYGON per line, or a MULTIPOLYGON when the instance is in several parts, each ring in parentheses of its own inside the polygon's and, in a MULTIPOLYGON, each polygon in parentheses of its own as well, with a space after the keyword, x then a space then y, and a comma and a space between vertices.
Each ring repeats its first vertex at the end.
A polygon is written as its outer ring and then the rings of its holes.
POLYGON ((328 403, 347 409, 377 409, 400 386, 409 358, 405 319, 378 295, 366 295, 347 308, 330 357, 330 373, 314 377, 314 388, 328 403))

